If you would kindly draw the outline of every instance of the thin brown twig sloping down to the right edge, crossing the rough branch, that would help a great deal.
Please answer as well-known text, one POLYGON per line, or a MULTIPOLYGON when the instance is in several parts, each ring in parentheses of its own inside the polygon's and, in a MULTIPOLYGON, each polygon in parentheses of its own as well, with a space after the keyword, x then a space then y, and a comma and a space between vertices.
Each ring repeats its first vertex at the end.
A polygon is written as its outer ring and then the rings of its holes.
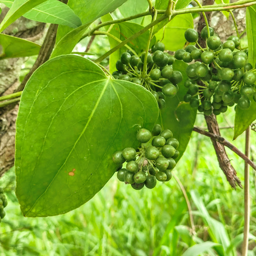
POLYGON ((217 142, 221 143, 222 145, 230 148, 233 152, 235 152, 235 154, 237 154, 239 157, 244 159, 244 161, 247 164, 249 164, 256 171, 256 164, 254 164, 254 162, 252 162, 245 154, 243 154, 238 148, 236 148, 233 144, 231 144, 229 141, 227 141, 223 137, 218 136, 218 135, 216 135, 214 133, 211 133, 211 132, 201 130, 198 127, 194 127, 193 131, 198 132, 200 134, 203 134, 203 135, 213 139, 214 141, 217 141, 217 142))

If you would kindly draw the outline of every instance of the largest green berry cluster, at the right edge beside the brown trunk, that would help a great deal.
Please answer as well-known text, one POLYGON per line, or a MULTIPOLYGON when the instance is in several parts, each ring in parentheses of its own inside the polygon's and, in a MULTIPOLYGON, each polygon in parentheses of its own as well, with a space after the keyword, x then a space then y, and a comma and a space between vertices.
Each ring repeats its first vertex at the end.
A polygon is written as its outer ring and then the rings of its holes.
POLYGON ((234 104, 241 109, 249 108, 251 100, 256 101, 256 69, 247 63, 248 51, 242 50, 237 36, 230 36, 222 43, 211 27, 209 32, 210 37, 207 27, 201 31, 201 38, 207 41, 207 48, 203 49, 197 42, 196 30, 187 29, 185 39, 196 42, 200 49, 189 44, 175 52, 177 60, 187 63, 199 60, 186 69, 189 79, 184 84, 188 88, 184 101, 190 102, 191 107, 198 108, 205 115, 212 112, 219 115, 234 104))

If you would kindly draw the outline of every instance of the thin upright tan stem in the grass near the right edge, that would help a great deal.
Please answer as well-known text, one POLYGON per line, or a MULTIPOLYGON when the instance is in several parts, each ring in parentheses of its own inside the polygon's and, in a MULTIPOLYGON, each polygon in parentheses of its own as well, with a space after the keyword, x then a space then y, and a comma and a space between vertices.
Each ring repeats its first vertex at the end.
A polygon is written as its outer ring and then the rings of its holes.
MULTIPOLYGON (((245 132, 245 155, 250 154, 250 128, 245 132)), ((248 254, 248 236, 250 229, 250 192, 249 192, 249 164, 244 165, 244 240, 242 245, 242 256, 248 254)))

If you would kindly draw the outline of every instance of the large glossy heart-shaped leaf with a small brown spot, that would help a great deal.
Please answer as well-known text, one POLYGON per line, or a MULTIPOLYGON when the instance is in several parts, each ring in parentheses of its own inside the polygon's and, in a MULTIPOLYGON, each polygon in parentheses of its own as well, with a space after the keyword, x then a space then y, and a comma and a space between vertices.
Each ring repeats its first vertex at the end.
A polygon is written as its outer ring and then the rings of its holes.
POLYGON ((16 122, 23 214, 64 214, 86 203, 115 173, 112 154, 138 147, 136 124, 151 130, 158 114, 145 88, 112 80, 86 58, 63 55, 41 65, 26 84, 16 122))

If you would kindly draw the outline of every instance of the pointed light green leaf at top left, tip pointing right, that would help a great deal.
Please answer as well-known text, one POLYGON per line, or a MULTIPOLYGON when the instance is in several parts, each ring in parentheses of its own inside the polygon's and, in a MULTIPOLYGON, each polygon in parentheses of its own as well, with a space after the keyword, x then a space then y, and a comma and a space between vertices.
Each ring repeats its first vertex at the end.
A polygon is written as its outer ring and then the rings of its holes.
MULTIPOLYGON (((14 0, 0 0, 7 7, 11 7, 14 0)), ((57 0, 48 0, 30 11, 23 14, 27 19, 32 19, 44 23, 61 24, 77 28, 82 25, 81 20, 66 4, 57 0)))

